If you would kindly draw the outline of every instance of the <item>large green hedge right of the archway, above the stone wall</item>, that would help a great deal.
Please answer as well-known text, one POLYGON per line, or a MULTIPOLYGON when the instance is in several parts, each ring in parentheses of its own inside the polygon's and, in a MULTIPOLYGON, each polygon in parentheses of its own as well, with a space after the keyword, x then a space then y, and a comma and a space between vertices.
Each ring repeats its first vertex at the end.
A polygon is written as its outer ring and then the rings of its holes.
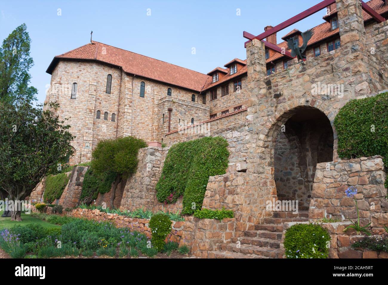
MULTIPOLYGON (((350 100, 338 112, 334 126, 340 157, 381 155, 387 167, 388 93, 350 100)), ((388 187, 388 176, 385 186, 388 187)))

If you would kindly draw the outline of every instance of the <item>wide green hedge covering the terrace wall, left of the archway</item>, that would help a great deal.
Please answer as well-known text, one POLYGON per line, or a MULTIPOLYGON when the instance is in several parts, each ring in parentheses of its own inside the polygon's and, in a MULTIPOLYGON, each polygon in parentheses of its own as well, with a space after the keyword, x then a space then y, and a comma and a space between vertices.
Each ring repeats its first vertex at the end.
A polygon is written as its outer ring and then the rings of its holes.
POLYGON ((175 203, 183 196, 182 214, 201 209, 209 176, 225 174, 229 162, 227 146, 222 137, 204 137, 173 145, 156 185, 159 202, 175 203))

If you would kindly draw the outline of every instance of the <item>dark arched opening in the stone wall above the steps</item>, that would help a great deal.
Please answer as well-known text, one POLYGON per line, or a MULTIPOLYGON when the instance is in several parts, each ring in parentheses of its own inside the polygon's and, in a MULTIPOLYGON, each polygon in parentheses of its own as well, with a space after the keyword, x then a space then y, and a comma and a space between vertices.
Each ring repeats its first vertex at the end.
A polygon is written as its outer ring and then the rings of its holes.
POLYGON ((333 161, 333 128, 326 115, 312 107, 294 109, 277 128, 274 144, 277 197, 297 200, 299 209, 307 210, 317 163, 333 161))

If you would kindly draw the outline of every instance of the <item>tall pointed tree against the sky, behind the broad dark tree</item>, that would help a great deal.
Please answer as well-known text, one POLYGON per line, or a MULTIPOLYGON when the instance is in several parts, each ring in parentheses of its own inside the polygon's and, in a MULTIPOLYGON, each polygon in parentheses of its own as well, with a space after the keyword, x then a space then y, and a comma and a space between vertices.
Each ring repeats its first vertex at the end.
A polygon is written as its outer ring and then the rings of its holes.
POLYGON ((28 86, 31 75, 29 69, 34 65, 29 55, 31 39, 22 24, 3 41, 0 47, 0 101, 23 104, 36 100, 38 92, 28 86))

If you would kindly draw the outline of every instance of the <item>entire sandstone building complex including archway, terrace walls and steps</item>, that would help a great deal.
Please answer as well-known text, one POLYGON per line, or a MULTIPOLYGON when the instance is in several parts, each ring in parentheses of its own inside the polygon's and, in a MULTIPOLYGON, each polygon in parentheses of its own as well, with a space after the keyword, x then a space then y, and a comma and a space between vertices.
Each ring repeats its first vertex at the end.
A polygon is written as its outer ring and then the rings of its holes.
MULTIPOLYGON (((339 157, 334 118, 349 100, 388 88, 388 3, 324 3, 330 5, 324 23, 313 28, 301 62, 276 51, 289 50, 286 41, 269 35, 271 26, 265 27, 266 41, 251 35, 246 60, 232 59, 208 74, 98 42, 55 57, 47 70, 47 101, 59 101, 59 115, 70 117, 77 136, 72 162, 90 160, 104 138, 134 135, 171 145, 223 136, 229 167, 209 178, 202 207, 231 209, 234 218, 186 217, 180 234, 198 257, 281 257, 288 222, 355 218, 354 200, 345 195, 349 186, 358 189, 362 225, 371 222, 373 233, 383 233, 383 161, 378 155, 339 157), (300 212, 268 209, 267 202, 275 200, 298 201, 300 212)), ((283 37, 289 38, 302 40, 297 29, 283 37)), ((123 186, 120 208, 180 210, 181 199, 165 208, 156 199, 168 148, 150 145, 139 151, 137 173, 123 186)), ((333 233, 330 257, 358 256, 350 247, 357 236, 344 234, 344 223, 326 226, 333 233)))

